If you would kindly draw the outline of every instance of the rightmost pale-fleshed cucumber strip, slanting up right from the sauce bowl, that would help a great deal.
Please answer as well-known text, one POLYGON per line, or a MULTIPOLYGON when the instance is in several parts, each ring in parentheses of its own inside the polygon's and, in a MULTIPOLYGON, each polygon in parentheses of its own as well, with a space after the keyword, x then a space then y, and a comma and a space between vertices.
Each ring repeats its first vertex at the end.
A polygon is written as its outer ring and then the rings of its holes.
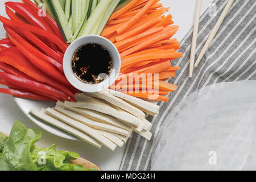
POLYGON ((96 34, 97 35, 101 35, 102 31, 104 30, 106 23, 108 23, 108 20, 110 18, 110 16, 112 15, 113 11, 115 10, 115 7, 117 7, 118 3, 120 2, 120 0, 113 0, 108 9, 106 10, 106 13, 104 14, 103 18, 101 19, 101 23, 100 26, 97 29, 96 34))

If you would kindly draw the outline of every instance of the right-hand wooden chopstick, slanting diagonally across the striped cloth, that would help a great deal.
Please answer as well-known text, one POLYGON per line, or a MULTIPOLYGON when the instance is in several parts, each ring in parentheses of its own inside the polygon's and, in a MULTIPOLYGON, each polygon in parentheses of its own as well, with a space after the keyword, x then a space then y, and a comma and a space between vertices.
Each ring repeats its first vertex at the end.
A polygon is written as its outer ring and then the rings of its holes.
POLYGON ((226 4, 225 9, 223 10, 223 12, 222 12, 220 18, 218 19, 217 23, 215 24, 215 26, 213 27, 213 30, 210 33, 209 38, 207 39, 207 42, 205 43, 202 51, 200 52, 200 54, 196 60, 194 68, 197 67, 197 65, 200 63, 201 59, 205 55, 205 52, 207 52, 208 48, 210 47, 210 44, 212 43, 214 36, 217 34, 218 28, 220 28, 221 23, 223 22, 226 15, 229 13, 230 7, 232 6, 233 2, 234 2, 234 0, 229 0, 228 3, 226 4))

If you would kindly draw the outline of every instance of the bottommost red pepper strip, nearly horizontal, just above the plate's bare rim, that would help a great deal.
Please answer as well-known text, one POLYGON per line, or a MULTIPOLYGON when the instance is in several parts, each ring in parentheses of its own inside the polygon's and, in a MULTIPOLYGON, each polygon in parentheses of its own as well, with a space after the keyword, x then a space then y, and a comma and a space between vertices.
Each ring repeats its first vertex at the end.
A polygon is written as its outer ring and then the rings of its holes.
POLYGON ((31 100, 40 100, 40 101, 54 101, 52 98, 39 96, 38 94, 34 94, 31 92, 27 92, 24 90, 16 90, 16 89, 2 89, 0 88, 0 93, 9 94, 14 97, 20 97, 20 98, 28 98, 31 100))

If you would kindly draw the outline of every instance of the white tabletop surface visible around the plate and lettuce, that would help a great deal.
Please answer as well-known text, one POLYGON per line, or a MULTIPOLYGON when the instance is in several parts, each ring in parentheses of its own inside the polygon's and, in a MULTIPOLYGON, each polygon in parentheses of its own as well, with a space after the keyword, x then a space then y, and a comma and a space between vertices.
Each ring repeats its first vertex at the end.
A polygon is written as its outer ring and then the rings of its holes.
MULTIPOLYGON (((17 1, 18 0, 13 0, 17 1)), ((203 13, 213 0, 203 0, 201 13, 203 13)), ((0 15, 6 16, 4 3, 6 0, 0 0, 0 15)), ((170 13, 174 17, 175 24, 179 25, 180 30, 175 35, 179 41, 184 38, 190 28, 193 26, 193 18, 196 10, 196 0, 161 0, 165 7, 171 7, 170 13)), ((5 30, 0 24, 0 39, 5 38, 5 30)), ((118 170, 121 164, 125 146, 117 148, 114 152, 102 147, 93 154, 89 152, 93 146, 85 142, 67 140, 45 131, 31 122, 25 114, 15 104, 13 97, 0 94, 0 131, 10 133, 15 119, 24 123, 29 128, 42 131, 43 137, 37 143, 39 146, 48 147, 53 143, 57 144, 57 150, 68 150, 78 152, 81 157, 92 161, 103 170, 118 170), (103 150, 103 151, 102 151, 103 150), (102 155, 103 154, 103 155, 102 155)), ((94 150, 95 151, 95 150, 94 150)))

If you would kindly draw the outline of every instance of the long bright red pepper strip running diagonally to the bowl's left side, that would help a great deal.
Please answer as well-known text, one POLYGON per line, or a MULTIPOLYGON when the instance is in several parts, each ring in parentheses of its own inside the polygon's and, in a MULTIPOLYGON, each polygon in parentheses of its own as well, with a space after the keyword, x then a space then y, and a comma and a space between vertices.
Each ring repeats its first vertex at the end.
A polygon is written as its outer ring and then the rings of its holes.
POLYGON ((18 47, 20 52, 23 53, 34 65, 36 65, 38 68, 42 69, 42 71, 46 72, 48 75, 50 75, 52 78, 55 78, 62 82, 65 85, 70 86, 67 78, 64 76, 64 74, 61 74, 59 71, 57 71, 52 64, 48 63, 47 61, 41 59, 40 57, 35 56, 30 51, 28 51, 26 48, 24 48, 22 42, 24 39, 16 34, 11 28, 5 27, 5 30, 7 31, 7 34, 9 35, 9 38, 11 42, 15 44, 15 46, 18 47))

